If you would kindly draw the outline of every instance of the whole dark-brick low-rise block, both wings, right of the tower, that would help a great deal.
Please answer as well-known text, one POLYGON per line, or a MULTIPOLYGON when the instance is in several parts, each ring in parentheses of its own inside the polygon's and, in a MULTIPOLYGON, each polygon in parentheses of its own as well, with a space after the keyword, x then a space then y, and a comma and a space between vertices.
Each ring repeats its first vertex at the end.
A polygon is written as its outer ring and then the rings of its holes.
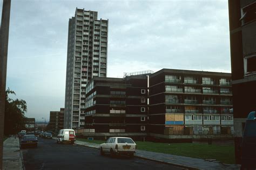
POLYGON ((86 137, 232 137, 231 73, 162 69, 95 77, 86 86, 84 114, 78 133, 86 137))

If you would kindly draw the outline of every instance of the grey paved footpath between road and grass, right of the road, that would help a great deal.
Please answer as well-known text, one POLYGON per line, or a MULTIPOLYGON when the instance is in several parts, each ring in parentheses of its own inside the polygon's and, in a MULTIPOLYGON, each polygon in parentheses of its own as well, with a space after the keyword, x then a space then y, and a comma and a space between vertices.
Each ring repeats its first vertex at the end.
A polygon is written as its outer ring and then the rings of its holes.
MULTIPOLYGON (((75 144, 97 149, 99 148, 99 144, 93 144, 84 141, 77 140, 75 144)), ((153 160, 157 162, 162 162, 164 164, 170 164, 188 169, 240 169, 240 165, 222 164, 219 161, 204 160, 198 158, 190 158, 179 155, 171 155, 141 150, 137 150, 134 156, 142 159, 153 160)))

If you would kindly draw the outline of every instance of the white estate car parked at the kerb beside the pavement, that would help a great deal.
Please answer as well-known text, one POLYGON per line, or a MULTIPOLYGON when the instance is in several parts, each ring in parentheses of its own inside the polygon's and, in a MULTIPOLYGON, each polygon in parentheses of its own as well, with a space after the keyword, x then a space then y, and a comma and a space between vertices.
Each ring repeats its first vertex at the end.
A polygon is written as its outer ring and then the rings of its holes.
POLYGON ((136 143, 131 138, 125 137, 112 137, 107 139, 104 144, 99 145, 101 155, 107 152, 110 153, 111 156, 115 154, 126 154, 133 157, 136 148, 136 143))

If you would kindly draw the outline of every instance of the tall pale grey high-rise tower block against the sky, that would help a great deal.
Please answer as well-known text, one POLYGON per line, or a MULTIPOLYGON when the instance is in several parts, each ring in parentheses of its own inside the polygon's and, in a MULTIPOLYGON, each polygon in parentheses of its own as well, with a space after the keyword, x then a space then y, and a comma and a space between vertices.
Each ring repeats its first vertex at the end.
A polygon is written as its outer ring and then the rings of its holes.
POLYGON ((82 128, 85 86, 93 77, 106 77, 108 20, 98 12, 76 9, 69 19, 66 66, 65 128, 82 128))

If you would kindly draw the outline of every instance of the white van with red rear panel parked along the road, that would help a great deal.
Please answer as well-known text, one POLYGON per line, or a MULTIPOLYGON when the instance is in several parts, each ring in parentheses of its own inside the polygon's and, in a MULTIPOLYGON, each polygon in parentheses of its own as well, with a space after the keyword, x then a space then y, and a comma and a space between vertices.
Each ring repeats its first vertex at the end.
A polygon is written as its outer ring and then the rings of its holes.
POLYGON ((63 129, 59 131, 57 135, 57 144, 68 142, 70 144, 74 144, 76 141, 76 134, 74 130, 71 129, 63 129))

